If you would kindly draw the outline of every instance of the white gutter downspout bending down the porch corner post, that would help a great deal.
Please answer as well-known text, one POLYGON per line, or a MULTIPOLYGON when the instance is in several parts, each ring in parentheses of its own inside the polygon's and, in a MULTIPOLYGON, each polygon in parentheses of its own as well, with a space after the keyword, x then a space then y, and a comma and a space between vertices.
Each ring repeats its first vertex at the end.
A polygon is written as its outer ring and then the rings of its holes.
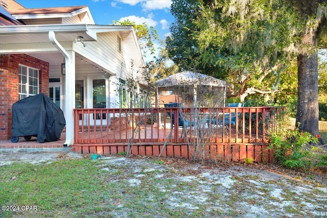
MULTIPOLYGON (((65 58, 65 63, 66 63, 66 66, 65 66, 65 71, 66 72, 65 72, 65 74, 67 76, 71 75, 72 72, 69 72, 70 68, 71 68, 71 64, 72 64, 71 56, 69 56, 67 51, 65 51, 64 48, 61 46, 61 44, 59 44, 59 42, 56 39, 56 35, 55 35, 55 33, 53 31, 49 31, 49 40, 53 45, 55 45, 57 50, 65 58)), ((66 78, 66 81, 69 81, 69 79, 66 78)), ((75 81, 75 79, 74 79, 74 81, 75 81)), ((69 104, 67 95, 69 95, 70 91, 69 91, 69 87, 68 87, 68 90, 67 90, 67 86, 68 86, 68 83, 66 82, 65 83, 65 90, 66 90, 66 93, 65 93, 65 96, 66 96, 66 98, 65 98, 65 115, 69 116, 69 117, 67 117, 68 119, 66 119, 66 141, 64 142, 64 147, 67 147, 67 146, 71 145, 72 143, 74 143, 74 123, 72 122, 72 120, 74 121, 74 118, 73 118, 74 114, 73 114, 73 112, 71 110, 71 106, 69 106, 71 104, 69 104)))

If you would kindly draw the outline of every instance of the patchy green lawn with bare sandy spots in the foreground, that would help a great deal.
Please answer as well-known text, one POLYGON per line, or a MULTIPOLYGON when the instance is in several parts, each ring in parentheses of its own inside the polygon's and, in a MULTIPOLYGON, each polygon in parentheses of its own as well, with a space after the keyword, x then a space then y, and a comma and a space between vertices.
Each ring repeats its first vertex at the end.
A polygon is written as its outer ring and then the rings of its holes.
POLYGON ((315 208, 327 210, 318 201, 327 196, 325 178, 272 173, 261 168, 267 165, 85 157, 0 166, 0 205, 37 206, 0 217, 314 217, 315 208))

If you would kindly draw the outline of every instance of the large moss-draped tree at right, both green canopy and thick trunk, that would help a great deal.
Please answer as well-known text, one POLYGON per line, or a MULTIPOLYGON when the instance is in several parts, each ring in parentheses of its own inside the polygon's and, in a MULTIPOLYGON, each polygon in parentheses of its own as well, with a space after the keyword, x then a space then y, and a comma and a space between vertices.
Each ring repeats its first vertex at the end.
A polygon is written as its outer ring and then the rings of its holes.
POLYGON ((241 98, 277 91, 277 75, 297 57, 296 119, 300 130, 318 134, 317 44, 326 0, 175 0, 171 11, 170 57, 184 68, 216 71, 241 98))

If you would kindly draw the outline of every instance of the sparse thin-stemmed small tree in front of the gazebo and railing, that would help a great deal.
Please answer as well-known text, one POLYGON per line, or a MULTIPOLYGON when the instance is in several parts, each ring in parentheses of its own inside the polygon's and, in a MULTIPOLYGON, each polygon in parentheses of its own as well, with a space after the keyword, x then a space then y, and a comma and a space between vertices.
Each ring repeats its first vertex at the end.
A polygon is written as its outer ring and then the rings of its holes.
MULTIPOLYGON (((208 151, 211 138, 215 137, 214 134, 217 133, 217 129, 212 129, 211 120, 217 117, 219 112, 222 112, 221 107, 224 106, 225 92, 224 89, 217 92, 217 90, 208 86, 208 84, 217 82, 214 78, 203 78, 202 75, 196 73, 190 75, 192 75, 192 78, 179 78, 178 85, 171 86, 169 90, 173 91, 175 99, 179 103, 179 120, 177 123, 183 125, 181 137, 186 140, 192 160, 203 163, 207 158, 206 155, 208 155, 206 151, 208 151)), ((175 83, 175 81, 169 81, 169 79, 166 82, 167 84, 161 85, 167 86, 175 83)), ((174 114, 174 118, 176 117, 176 114, 174 114)), ((178 136, 175 135, 175 137, 178 136)))

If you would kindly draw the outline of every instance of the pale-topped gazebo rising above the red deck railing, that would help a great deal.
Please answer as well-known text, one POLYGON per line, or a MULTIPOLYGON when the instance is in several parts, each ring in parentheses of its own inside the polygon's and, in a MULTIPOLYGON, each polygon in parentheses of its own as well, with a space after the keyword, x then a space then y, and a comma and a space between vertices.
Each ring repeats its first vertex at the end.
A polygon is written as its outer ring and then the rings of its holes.
POLYGON ((224 107, 226 81, 183 71, 156 81, 159 104, 180 102, 184 106, 224 107))

